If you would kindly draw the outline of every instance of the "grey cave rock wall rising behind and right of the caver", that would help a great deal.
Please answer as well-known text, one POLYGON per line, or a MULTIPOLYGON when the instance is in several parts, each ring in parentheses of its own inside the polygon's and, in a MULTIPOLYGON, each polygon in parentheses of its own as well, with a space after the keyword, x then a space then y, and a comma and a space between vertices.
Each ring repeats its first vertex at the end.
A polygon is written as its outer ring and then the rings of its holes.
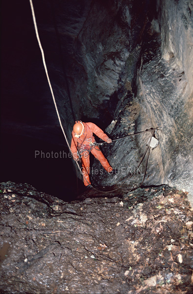
MULTIPOLYGON (((144 185, 168 183, 191 195, 191 1, 96 1, 84 2, 82 9, 84 23, 73 36, 75 57, 69 69, 73 104, 79 101, 76 117, 111 122, 106 132, 112 139, 161 126, 160 144, 150 151, 144 185)), ((111 185, 125 179, 137 168, 150 138, 151 133, 142 133, 102 147, 120 172, 94 173, 93 182, 111 185)), ((128 184, 140 184, 145 160, 141 167, 128 184)), ((94 170, 100 169, 95 162, 94 170)))

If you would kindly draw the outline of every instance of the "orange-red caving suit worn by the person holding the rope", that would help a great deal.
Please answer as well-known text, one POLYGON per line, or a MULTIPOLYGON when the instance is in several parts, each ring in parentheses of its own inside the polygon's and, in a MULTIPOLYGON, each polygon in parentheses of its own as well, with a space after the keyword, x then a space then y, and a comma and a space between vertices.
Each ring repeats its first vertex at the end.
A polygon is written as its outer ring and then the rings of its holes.
POLYGON ((93 133, 103 141, 107 141, 109 138, 95 123, 83 123, 84 132, 79 138, 74 137, 74 131, 72 131, 71 151, 73 159, 78 159, 77 151, 81 155, 82 160, 82 173, 84 185, 91 184, 90 173, 90 156, 89 151, 98 159, 107 172, 111 172, 113 168, 108 163, 107 159, 102 154, 102 151, 97 145, 93 145, 96 141, 93 133))

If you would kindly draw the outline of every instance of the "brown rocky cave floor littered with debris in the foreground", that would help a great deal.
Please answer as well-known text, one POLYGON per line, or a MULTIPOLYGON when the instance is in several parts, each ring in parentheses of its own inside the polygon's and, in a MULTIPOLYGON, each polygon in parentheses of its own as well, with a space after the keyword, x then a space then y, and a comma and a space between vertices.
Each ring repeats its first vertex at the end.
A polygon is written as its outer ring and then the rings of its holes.
POLYGON ((0 184, 0 293, 192 291, 186 192, 162 185, 67 203, 0 184))

